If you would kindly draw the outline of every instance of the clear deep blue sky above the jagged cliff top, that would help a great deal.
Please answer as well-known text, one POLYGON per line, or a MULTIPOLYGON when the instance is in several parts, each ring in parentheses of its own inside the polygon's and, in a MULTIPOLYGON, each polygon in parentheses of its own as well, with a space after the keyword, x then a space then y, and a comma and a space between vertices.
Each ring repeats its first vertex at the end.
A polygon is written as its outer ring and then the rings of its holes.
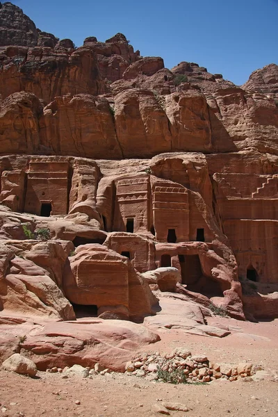
MULTIPOLYGON (((3 0, 2 0, 3 1, 3 0)), ((278 0, 12 0, 42 31, 80 46, 117 32, 165 67, 182 60, 240 85, 278 64, 278 0)))

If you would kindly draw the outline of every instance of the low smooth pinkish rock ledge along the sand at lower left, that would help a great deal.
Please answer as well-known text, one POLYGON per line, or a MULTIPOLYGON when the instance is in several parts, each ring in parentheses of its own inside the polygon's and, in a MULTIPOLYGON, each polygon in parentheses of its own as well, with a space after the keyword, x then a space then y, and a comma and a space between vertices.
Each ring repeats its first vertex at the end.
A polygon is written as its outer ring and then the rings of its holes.
MULTIPOLYGON (((38 370, 81 365, 124 372, 126 361, 144 345, 156 343, 160 337, 142 325, 124 320, 99 318, 80 322, 23 322, 15 325, 7 320, 1 326, 1 345, 17 339, 21 354, 29 357, 38 370), (24 335, 21 340, 19 335, 24 335), (55 336, 54 336, 55 335, 55 336)), ((1 353, 1 351, 0 351, 1 353)), ((6 359, 6 358, 5 358, 6 359)), ((0 357, 0 360, 3 359, 0 357)))

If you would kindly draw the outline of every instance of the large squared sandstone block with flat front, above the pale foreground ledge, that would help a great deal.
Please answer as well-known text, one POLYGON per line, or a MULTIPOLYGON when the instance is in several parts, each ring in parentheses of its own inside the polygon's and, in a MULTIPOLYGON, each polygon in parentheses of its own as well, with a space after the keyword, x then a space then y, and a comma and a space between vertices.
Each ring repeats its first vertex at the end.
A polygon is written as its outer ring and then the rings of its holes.
POLYGON ((101 245, 83 245, 70 259, 63 286, 71 302, 96 305, 101 313, 124 311, 126 318, 140 320, 153 314, 157 300, 128 259, 101 245), (115 309, 117 307, 117 309, 115 309))

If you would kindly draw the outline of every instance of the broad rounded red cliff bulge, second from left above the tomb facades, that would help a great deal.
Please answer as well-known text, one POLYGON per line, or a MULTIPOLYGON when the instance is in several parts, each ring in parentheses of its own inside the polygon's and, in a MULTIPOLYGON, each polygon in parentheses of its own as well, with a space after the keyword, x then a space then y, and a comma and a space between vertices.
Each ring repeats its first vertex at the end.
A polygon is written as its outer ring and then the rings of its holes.
POLYGON ((41 121, 45 146, 52 154, 121 158, 113 115, 104 97, 56 97, 41 121))

